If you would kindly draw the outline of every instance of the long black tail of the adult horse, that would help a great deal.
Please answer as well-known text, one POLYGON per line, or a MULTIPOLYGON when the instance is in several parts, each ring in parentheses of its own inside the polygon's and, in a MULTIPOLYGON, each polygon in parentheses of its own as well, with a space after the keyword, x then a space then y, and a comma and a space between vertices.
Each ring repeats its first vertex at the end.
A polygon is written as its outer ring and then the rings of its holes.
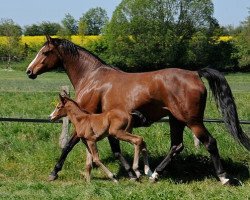
POLYGON ((200 77, 208 80, 216 104, 221 108, 224 122, 231 135, 250 151, 250 138, 242 131, 232 91, 225 77, 217 70, 204 68, 198 71, 200 77))

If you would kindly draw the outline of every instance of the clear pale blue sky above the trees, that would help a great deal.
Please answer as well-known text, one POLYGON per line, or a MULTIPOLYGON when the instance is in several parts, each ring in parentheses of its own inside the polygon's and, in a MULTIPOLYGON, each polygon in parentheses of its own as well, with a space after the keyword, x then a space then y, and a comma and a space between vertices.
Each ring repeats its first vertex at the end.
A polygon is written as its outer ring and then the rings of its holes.
MULTIPOLYGON (((97 6, 111 18, 121 0, 1 0, 0 19, 12 19, 20 26, 43 21, 60 23, 65 14, 78 20, 83 13, 97 6)), ((222 26, 238 26, 249 15, 250 0, 213 0, 214 17, 222 26)))

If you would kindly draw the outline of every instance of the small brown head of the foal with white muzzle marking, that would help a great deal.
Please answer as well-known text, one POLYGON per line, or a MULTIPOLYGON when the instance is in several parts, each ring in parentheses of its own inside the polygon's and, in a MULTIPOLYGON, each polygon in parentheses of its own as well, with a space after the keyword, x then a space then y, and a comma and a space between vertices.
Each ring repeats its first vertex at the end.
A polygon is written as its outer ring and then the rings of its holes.
POLYGON ((49 116, 51 121, 56 121, 62 117, 67 116, 67 108, 65 107, 65 105, 71 99, 67 96, 62 96, 61 94, 59 94, 59 97, 60 102, 56 105, 55 110, 49 116))

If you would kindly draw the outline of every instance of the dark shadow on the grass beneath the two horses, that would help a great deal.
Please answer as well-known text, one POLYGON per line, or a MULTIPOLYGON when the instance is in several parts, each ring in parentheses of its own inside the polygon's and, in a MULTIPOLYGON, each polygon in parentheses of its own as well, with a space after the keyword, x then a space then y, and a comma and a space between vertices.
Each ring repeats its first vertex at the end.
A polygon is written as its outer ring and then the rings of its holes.
MULTIPOLYGON (((129 163, 133 162, 131 156, 125 155, 129 163)), ((150 157, 150 167, 154 170, 164 157, 150 157)), ((142 159, 140 159, 142 160, 142 159)), ((109 158, 105 162, 117 162, 109 158)), ((222 164, 226 172, 240 181, 249 179, 249 169, 247 163, 234 162, 231 159, 222 159, 222 164)), ((140 171, 143 174, 143 162, 140 161, 140 171)), ((123 167, 119 168, 118 179, 128 177, 123 167)), ((165 169, 160 179, 171 179, 175 183, 189 183, 192 181, 202 181, 206 178, 216 177, 214 165, 208 156, 203 155, 179 155, 172 160, 170 165, 165 169)))

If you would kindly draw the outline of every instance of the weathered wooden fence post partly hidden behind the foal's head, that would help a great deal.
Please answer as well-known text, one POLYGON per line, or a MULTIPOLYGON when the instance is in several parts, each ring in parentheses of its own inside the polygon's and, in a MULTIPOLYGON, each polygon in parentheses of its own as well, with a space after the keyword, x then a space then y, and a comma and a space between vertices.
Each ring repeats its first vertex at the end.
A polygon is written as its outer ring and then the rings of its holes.
MULTIPOLYGON (((69 86, 62 86, 61 94, 63 95, 65 93, 68 96, 70 96, 69 86)), ((66 116, 66 117, 63 117, 62 120, 63 120, 63 124, 62 124, 62 132, 59 137, 59 146, 63 149, 69 140, 69 118, 66 116)))

